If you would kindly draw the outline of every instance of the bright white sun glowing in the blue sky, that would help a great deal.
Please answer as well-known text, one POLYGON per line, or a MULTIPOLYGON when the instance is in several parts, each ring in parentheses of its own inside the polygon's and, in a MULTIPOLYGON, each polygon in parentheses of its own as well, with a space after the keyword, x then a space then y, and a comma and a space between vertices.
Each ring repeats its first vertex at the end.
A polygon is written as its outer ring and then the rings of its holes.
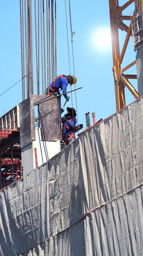
POLYGON ((112 46, 111 29, 103 26, 92 31, 91 43, 96 50, 106 52, 112 46))

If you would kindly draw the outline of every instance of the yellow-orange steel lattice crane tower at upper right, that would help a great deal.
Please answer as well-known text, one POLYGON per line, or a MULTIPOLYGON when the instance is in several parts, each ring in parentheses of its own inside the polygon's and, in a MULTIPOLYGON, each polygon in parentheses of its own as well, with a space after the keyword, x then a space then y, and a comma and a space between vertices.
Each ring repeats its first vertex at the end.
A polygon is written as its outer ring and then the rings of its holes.
POLYGON ((124 74, 125 71, 127 71, 130 67, 136 64, 136 60, 134 60, 132 63, 129 63, 126 67, 121 68, 121 64, 125 56, 130 36, 132 36, 132 20, 136 14, 136 11, 134 10, 132 16, 123 16, 122 11, 124 11, 133 2, 134 0, 128 0, 123 6, 119 6, 119 0, 109 0, 113 53, 113 75, 115 81, 115 100, 117 111, 126 106, 125 87, 128 88, 128 90, 132 93, 135 99, 139 98, 137 90, 128 80, 137 79, 137 74, 124 74), (130 26, 128 27, 126 24, 124 24, 123 20, 130 20, 130 26), (121 53, 119 50, 120 45, 118 29, 126 31, 127 33, 121 53))

